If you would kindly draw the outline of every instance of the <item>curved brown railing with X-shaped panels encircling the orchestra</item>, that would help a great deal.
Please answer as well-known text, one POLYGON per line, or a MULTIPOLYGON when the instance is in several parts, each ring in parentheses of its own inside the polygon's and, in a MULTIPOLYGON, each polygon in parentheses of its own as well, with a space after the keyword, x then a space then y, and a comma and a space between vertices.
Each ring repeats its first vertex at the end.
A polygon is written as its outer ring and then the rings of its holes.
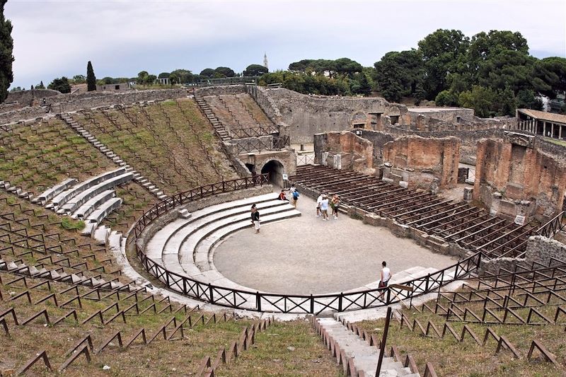
POLYGON ((147 272, 161 280, 170 289, 186 296, 207 301, 219 306, 229 308, 244 308, 252 311, 274 311, 280 313, 306 313, 319 314, 323 311, 352 311, 378 306, 388 306, 392 303, 412 299, 439 289, 454 280, 467 277, 480 266, 482 253, 475 253, 456 265, 446 267, 433 274, 404 282, 403 286, 392 284, 386 288, 367 289, 340 294, 320 295, 287 295, 270 294, 258 291, 244 291, 216 286, 199 282, 175 272, 171 272, 144 253, 144 249, 135 242, 158 216, 166 214, 180 204, 192 202, 197 199, 209 197, 221 192, 240 190, 247 187, 263 185, 268 182, 268 175, 256 175, 253 178, 240 178, 212 185, 197 187, 187 192, 168 197, 146 211, 136 222, 133 232, 130 233, 128 244, 134 242, 137 257, 147 272))

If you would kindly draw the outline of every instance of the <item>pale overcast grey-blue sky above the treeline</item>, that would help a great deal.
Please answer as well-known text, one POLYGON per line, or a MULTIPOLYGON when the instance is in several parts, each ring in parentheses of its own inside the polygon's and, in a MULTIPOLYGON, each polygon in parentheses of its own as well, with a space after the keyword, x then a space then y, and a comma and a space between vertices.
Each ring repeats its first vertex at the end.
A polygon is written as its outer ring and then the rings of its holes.
POLYGON ((439 28, 513 30, 535 57, 566 57, 566 1, 87 1, 8 0, 12 86, 86 74, 98 79, 173 69, 350 57, 371 66, 439 28))

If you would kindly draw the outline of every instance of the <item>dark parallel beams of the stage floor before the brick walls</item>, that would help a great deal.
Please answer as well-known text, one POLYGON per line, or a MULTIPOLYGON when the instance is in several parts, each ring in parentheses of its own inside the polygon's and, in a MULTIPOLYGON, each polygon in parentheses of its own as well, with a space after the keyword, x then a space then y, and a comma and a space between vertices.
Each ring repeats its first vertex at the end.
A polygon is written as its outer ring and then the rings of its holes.
POLYGON ((519 226, 466 202, 383 182, 374 176, 326 166, 299 166, 292 182, 310 190, 340 195, 342 202, 394 219, 429 234, 427 242, 451 241, 493 257, 524 257, 526 240, 537 224, 519 226))

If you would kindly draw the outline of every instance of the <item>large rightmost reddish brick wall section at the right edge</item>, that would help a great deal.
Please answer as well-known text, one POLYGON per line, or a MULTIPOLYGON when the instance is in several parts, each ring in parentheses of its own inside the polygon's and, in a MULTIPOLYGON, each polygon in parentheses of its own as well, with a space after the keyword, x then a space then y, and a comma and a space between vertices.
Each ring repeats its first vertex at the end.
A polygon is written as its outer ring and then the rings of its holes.
POLYGON ((532 216, 545 221, 562 210, 565 191, 566 164, 535 137, 505 132, 503 139, 478 141, 473 197, 492 214, 517 224, 532 216))

